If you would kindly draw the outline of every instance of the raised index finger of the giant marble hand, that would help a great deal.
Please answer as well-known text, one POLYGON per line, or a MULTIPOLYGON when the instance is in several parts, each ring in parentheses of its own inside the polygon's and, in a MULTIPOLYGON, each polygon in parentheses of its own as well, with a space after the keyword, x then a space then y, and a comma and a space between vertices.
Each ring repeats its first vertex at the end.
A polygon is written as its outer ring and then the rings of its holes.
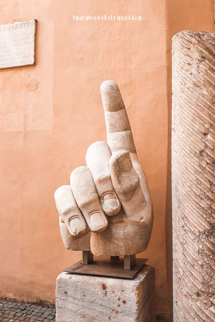
POLYGON ((111 80, 104 81, 100 90, 107 130, 107 143, 111 151, 136 152, 128 115, 117 83, 111 80))

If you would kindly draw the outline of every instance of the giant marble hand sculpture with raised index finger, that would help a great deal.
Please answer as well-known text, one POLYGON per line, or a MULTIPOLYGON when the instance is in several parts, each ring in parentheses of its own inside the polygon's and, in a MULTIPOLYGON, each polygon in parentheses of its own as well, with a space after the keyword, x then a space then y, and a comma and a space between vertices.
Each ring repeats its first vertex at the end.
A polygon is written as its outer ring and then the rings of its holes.
POLYGON ((148 246, 153 206, 116 82, 104 81, 101 95, 107 143, 88 147, 86 166, 74 169, 70 185, 55 191, 60 231, 67 249, 133 255, 148 246))

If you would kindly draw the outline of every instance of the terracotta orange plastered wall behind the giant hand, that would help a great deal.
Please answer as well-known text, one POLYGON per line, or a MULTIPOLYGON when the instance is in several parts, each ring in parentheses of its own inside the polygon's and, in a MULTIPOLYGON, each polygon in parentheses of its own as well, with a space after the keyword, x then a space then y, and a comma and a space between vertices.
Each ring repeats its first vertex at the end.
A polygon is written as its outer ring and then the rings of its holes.
POLYGON ((106 140, 99 87, 117 81, 154 204, 156 311, 171 315, 171 37, 213 31, 213 0, 6 1, 1 24, 38 19, 36 65, 0 70, 1 296, 54 302, 81 253, 64 249, 54 191, 106 140), (134 14, 142 22, 73 21, 134 14))

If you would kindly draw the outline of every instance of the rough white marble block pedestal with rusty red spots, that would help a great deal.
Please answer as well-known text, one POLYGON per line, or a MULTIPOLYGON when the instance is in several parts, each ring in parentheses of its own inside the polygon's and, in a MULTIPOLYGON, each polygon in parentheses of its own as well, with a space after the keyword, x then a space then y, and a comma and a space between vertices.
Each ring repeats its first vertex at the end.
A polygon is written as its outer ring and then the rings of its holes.
POLYGON ((56 322, 154 322, 154 268, 133 279, 61 273, 56 322))

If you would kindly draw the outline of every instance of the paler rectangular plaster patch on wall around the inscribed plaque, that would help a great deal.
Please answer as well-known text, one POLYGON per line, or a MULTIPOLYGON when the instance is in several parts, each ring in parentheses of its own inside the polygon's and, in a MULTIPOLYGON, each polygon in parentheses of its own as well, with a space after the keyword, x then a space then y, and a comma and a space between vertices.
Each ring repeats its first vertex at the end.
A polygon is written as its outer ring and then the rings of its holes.
POLYGON ((38 19, 35 66, 1 70, 0 131, 52 130, 54 24, 38 19))

